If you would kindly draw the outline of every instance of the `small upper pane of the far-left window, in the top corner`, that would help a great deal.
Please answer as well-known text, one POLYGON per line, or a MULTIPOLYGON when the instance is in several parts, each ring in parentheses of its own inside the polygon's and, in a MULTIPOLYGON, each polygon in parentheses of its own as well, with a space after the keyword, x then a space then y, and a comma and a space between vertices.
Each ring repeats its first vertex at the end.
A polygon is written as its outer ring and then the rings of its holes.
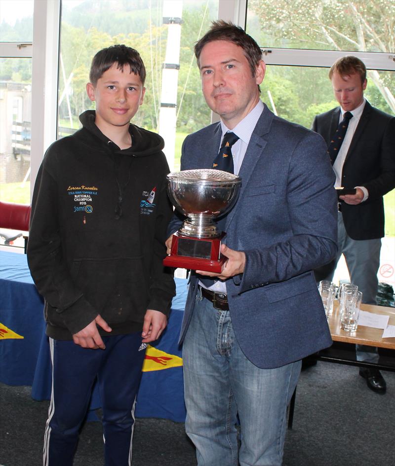
POLYGON ((0 42, 33 41, 33 0, 1 0, 0 42))

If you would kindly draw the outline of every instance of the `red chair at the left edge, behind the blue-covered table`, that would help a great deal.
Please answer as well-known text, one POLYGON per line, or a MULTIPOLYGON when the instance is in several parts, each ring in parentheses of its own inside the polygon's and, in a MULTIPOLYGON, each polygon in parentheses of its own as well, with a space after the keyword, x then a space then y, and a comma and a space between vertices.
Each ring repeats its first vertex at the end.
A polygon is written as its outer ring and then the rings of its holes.
MULTIPOLYGON (((26 204, 15 204, 13 202, 0 201, 0 228, 8 228, 21 232, 29 231, 30 213, 32 207, 26 204)), ((25 239, 25 253, 28 244, 28 235, 18 233, 14 236, 6 236, 3 232, 4 244, 10 244, 16 238, 23 236, 25 239)))

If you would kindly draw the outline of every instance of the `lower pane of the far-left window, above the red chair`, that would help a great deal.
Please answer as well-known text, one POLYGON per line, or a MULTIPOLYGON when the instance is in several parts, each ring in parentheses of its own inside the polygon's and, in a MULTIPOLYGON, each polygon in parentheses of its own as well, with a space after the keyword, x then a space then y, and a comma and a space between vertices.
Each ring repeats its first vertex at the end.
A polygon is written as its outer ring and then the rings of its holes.
POLYGON ((0 199, 30 203, 32 59, 0 59, 0 199))

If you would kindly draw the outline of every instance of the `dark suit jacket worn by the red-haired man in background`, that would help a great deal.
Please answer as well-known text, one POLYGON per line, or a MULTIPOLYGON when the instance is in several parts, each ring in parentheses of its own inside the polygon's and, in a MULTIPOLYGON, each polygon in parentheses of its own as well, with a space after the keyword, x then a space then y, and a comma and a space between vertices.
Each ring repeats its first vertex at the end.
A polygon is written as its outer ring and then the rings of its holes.
MULTIPOLYGON (((317 115, 313 131, 327 145, 339 124, 340 107, 317 115)), ((395 117, 365 103, 347 152, 342 171, 342 186, 364 186, 369 197, 356 206, 342 203, 347 234, 354 240, 384 236, 383 195, 395 187, 395 117)))

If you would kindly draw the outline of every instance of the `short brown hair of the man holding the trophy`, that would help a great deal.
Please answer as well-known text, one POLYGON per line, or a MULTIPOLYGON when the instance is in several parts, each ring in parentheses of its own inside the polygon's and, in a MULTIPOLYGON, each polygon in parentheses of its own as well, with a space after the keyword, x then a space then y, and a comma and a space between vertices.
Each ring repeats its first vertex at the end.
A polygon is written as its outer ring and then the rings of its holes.
POLYGON ((262 51, 259 45, 242 28, 236 26, 234 23, 223 20, 213 21, 211 28, 197 41, 195 45, 195 56, 199 68, 202 48, 214 40, 226 40, 241 47, 251 68, 252 75, 255 76, 256 67, 262 59, 262 51))

